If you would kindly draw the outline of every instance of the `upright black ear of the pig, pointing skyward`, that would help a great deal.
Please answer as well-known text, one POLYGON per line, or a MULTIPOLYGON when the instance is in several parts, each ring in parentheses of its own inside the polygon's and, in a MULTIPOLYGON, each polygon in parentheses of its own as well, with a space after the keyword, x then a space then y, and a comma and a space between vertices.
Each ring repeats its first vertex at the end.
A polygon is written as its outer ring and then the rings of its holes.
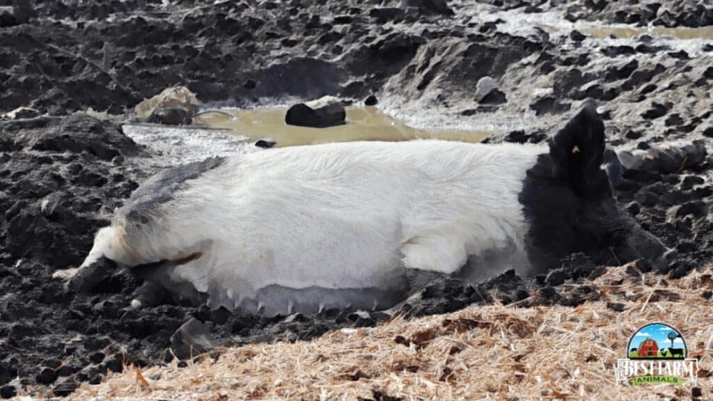
POLYGON ((602 177, 604 123, 593 105, 585 106, 550 140, 555 177, 582 196, 602 177))

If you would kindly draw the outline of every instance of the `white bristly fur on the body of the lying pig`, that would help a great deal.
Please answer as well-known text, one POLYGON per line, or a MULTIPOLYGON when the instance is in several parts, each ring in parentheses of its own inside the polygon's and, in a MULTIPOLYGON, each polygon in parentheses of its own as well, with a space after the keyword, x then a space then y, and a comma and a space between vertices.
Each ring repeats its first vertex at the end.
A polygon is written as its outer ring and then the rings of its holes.
POLYGON ((518 193, 543 151, 411 141, 236 156, 186 181, 150 225, 103 229, 88 260, 138 265, 200 252, 174 275, 235 305, 268 285, 388 289, 404 268, 454 273, 508 243, 524 253, 518 193))

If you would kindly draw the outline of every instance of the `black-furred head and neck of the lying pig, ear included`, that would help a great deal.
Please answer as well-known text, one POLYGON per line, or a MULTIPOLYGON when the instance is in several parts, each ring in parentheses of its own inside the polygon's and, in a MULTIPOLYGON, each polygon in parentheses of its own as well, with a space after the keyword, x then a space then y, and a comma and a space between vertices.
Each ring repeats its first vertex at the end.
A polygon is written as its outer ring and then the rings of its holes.
MULTIPOLYGON (((550 152, 528 170, 519 196, 534 272, 557 267, 561 258, 575 252, 603 264, 642 257, 665 263, 660 240, 617 206, 602 169, 604 124, 593 107, 583 108, 549 145, 550 152)), ((616 166, 610 170, 616 181, 616 166)))

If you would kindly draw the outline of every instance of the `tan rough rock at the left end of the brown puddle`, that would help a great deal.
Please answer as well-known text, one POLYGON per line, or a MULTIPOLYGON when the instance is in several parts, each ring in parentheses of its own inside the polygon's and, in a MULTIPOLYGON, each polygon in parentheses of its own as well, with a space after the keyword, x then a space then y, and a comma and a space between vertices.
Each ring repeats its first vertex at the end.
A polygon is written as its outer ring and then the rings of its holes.
POLYGON ((145 121, 180 126, 190 124, 199 108, 195 93, 185 86, 175 86, 138 103, 135 111, 145 121))

